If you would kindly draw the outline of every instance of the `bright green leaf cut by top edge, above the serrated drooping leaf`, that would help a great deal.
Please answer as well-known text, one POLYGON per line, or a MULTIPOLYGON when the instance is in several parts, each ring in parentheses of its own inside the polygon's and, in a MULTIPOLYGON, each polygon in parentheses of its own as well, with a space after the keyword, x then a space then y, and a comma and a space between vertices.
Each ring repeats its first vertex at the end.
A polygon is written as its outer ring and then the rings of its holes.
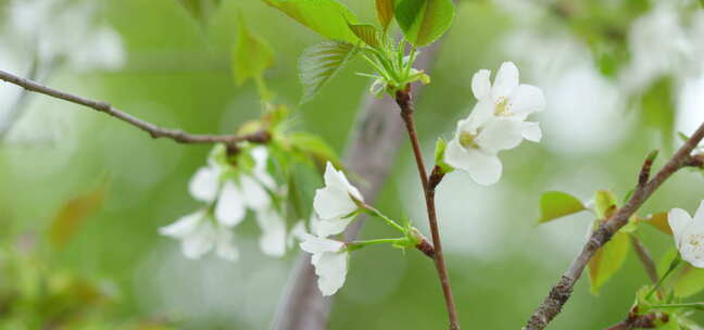
POLYGON ((360 40, 348 27, 348 23, 359 22, 356 16, 336 0, 263 1, 326 38, 351 43, 360 40))

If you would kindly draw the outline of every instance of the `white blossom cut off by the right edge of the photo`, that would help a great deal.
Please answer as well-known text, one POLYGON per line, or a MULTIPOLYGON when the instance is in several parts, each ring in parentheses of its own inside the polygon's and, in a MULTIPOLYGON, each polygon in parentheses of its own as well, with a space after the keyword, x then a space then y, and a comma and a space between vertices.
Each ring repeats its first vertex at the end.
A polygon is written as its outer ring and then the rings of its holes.
POLYGON ((694 267, 704 268, 704 201, 694 218, 684 210, 672 208, 667 220, 682 259, 694 267))

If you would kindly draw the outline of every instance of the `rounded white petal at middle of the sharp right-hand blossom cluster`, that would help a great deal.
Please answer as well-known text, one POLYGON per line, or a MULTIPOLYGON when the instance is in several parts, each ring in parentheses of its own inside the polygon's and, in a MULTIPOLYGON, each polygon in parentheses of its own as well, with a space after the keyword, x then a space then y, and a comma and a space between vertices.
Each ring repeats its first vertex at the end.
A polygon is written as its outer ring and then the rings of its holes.
POLYGON ((488 122, 475 142, 491 153, 516 148, 523 141, 523 122, 493 119, 488 122))

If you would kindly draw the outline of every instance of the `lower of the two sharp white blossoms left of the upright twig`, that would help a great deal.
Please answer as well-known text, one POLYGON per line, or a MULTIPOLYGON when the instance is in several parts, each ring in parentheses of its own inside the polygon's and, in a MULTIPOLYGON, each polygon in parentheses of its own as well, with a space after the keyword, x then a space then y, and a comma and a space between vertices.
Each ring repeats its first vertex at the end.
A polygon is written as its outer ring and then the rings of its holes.
POLYGON ((335 294, 347 277, 349 252, 344 243, 305 234, 301 249, 313 254, 311 263, 318 276, 318 289, 324 296, 335 294))

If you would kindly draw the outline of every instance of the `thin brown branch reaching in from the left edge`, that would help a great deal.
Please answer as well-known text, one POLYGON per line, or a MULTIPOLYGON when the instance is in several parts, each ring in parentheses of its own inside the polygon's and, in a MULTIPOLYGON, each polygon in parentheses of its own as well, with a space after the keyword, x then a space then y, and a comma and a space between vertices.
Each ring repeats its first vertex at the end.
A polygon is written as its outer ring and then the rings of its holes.
POLYGON ((256 131, 254 134, 249 134, 249 135, 192 135, 179 129, 159 127, 154 124, 144 122, 130 114, 127 114, 110 105, 110 103, 108 102, 90 100, 65 91, 53 89, 51 87, 43 86, 37 81, 25 79, 4 71, 0 71, 0 80, 4 80, 7 82, 17 85, 28 91, 42 93, 55 99, 61 99, 72 103, 80 104, 90 107, 92 110, 109 114, 120 120, 128 123, 143 131, 147 131, 154 139, 169 138, 179 143, 221 143, 222 142, 227 144, 235 144, 237 142, 242 142, 242 141, 263 143, 271 139, 271 135, 266 131, 256 131))

